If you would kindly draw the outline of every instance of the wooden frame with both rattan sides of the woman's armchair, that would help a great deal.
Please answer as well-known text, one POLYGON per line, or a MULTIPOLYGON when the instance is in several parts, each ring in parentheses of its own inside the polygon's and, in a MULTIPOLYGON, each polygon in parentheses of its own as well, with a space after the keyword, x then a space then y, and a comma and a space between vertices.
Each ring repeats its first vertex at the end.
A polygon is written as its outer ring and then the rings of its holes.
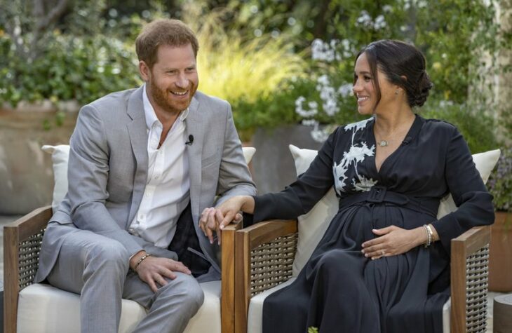
MULTIPOLYGON (((252 297, 292 276, 297 221, 269 221, 236 231, 235 332, 248 332, 252 297)), ((485 332, 490 227, 475 227, 452 240, 451 332, 485 332)), ((445 329, 446 330, 446 329, 445 329)))

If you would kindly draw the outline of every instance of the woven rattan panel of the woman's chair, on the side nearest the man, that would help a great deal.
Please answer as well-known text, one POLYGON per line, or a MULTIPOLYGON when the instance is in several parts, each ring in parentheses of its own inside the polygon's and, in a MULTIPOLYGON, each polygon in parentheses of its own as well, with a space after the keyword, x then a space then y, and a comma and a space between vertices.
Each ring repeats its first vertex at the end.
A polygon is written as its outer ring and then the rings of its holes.
POLYGON ((278 237, 250 252, 250 292, 260 294, 292 276, 297 233, 278 237))

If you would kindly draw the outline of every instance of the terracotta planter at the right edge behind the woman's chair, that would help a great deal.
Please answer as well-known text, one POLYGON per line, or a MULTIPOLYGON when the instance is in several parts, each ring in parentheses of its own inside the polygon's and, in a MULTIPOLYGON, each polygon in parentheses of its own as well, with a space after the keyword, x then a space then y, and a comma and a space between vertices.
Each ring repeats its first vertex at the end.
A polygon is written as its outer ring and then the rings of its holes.
POLYGON ((512 213, 496 212, 491 226, 489 290, 512 292, 512 213))

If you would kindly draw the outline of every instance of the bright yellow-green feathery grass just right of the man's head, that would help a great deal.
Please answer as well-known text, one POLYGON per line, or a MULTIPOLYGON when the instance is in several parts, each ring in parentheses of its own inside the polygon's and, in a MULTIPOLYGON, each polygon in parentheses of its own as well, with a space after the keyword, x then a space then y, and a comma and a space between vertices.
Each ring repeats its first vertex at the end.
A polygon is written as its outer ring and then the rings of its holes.
POLYGON ((228 34, 222 29, 223 13, 202 15, 201 26, 195 29, 201 46, 197 59, 201 91, 229 101, 255 102, 274 94, 283 81, 304 76, 305 62, 292 52, 290 42, 268 35, 247 40, 228 34))

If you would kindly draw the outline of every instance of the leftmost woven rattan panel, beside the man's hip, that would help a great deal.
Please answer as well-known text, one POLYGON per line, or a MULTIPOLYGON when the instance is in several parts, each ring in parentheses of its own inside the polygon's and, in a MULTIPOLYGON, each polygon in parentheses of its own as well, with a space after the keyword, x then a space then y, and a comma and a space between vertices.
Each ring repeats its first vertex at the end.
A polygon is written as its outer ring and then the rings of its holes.
POLYGON ((41 229, 38 233, 18 244, 20 290, 32 285, 32 281, 34 281, 39 265, 39 250, 41 250, 41 242, 43 241, 45 230, 41 229))

